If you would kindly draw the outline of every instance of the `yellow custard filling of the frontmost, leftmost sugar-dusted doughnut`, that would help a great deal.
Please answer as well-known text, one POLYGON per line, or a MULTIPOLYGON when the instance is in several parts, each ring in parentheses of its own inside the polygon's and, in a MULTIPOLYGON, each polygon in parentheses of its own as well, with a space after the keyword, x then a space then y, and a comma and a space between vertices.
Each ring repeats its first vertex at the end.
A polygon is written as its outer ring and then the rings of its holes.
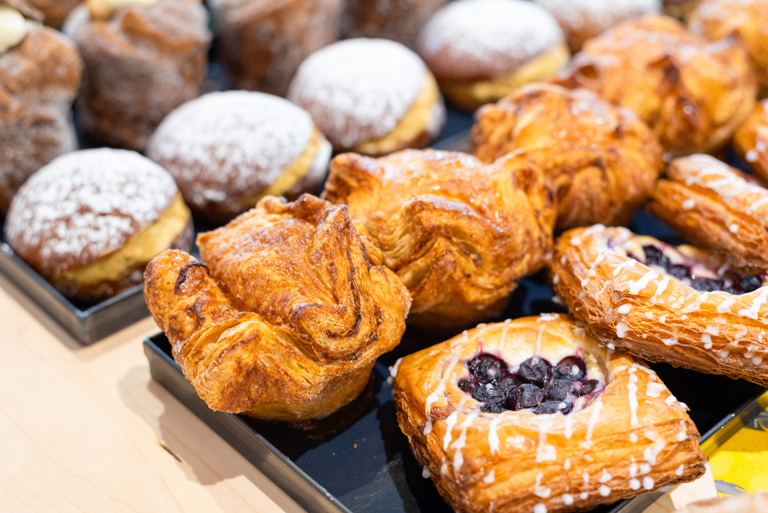
POLYGON ((74 270, 51 276, 53 281, 93 285, 120 280, 133 269, 147 263, 170 247, 190 221, 190 210, 180 193, 154 223, 151 223, 117 251, 74 270))

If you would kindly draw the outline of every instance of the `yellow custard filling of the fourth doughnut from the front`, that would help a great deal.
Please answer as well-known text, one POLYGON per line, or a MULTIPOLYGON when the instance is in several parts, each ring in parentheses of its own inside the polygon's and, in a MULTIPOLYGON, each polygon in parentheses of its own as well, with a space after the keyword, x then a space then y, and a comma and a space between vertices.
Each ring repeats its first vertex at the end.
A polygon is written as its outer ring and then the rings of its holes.
POLYGON ((525 84, 550 78, 568 63, 570 57, 568 46, 561 43, 503 77, 482 81, 441 81, 440 85, 456 104, 474 109, 498 101, 525 84))

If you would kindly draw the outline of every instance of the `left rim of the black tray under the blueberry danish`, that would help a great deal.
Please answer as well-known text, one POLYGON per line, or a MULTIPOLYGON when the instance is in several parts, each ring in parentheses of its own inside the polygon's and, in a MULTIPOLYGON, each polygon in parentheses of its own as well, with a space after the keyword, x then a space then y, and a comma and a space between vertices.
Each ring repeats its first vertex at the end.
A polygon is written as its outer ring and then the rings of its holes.
POLYGON ((232 413, 215 412, 208 408, 187 381, 181 367, 174 362, 154 338, 163 333, 144 339, 144 354, 149 360, 152 379, 160 383, 191 412, 213 429, 225 442, 243 455, 280 489, 286 492, 296 504, 309 513, 352 513, 326 488, 306 475, 298 465, 286 458, 282 452, 262 435, 253 431, 239 416, 232 413))

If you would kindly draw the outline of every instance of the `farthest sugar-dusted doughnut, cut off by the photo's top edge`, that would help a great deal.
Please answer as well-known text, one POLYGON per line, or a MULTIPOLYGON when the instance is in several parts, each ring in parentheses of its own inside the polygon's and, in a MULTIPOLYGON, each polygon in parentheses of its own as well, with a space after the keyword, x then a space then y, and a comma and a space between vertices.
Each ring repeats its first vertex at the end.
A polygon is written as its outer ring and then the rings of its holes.
POLYGON ((534 0, 554 16, 568 39, 571 51, 601 35, 616 22, 661 11, 661 0, 534 0))

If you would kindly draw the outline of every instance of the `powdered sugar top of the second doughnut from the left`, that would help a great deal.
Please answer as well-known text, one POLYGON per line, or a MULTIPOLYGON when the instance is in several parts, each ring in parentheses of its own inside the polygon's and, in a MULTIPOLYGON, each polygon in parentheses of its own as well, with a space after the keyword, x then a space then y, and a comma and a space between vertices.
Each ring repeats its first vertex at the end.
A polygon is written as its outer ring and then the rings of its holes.
POLYGON ((174 176, 190 204, 257 194, 304 151, 310 114, 272 94, 227 91, 188 101, 166 117, 147 155, 174 176))

